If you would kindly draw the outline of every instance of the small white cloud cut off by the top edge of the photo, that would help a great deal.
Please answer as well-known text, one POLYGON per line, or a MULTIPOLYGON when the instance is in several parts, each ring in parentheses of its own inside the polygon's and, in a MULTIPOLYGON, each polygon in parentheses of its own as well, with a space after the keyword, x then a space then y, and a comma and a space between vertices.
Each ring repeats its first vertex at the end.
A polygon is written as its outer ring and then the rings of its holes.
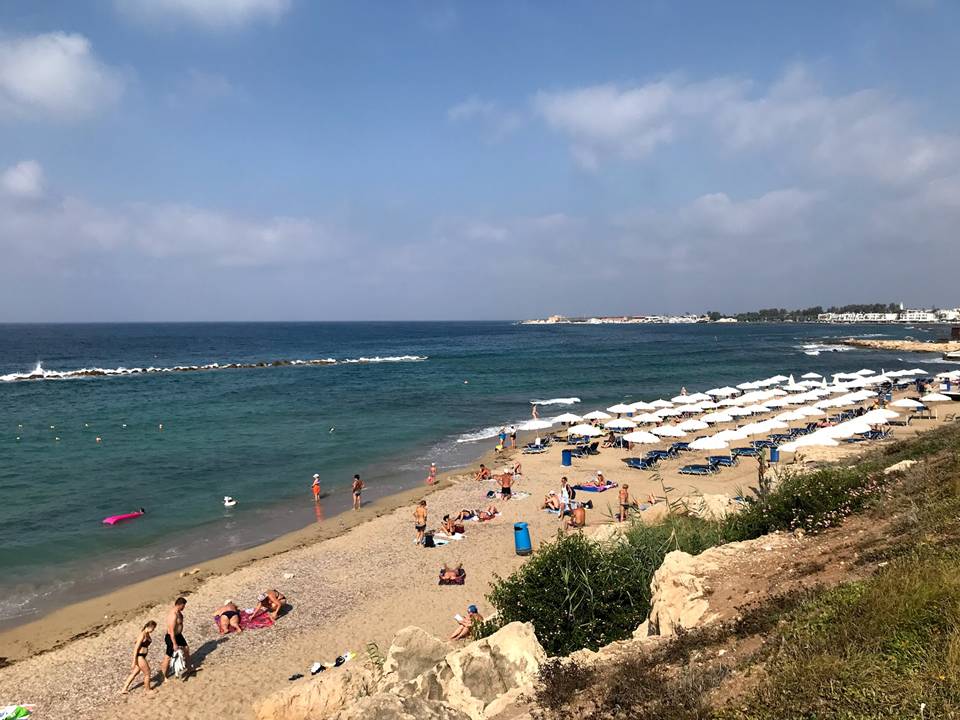
POLYGON ((115 0, 126 15, 144 22, 172 20, 212 30, 231 30, 258 20, 278 21, 290 0, 115 0))

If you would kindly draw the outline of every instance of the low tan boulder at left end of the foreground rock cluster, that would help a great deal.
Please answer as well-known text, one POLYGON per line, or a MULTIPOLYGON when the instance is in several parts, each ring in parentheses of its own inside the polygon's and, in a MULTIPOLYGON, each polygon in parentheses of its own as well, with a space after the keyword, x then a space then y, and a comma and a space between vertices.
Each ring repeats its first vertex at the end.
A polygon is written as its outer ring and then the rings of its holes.
POLYGON ((325 720, 377 691, 378 673, 347 663, 293 683, 255 707, 258 720, 325 720))

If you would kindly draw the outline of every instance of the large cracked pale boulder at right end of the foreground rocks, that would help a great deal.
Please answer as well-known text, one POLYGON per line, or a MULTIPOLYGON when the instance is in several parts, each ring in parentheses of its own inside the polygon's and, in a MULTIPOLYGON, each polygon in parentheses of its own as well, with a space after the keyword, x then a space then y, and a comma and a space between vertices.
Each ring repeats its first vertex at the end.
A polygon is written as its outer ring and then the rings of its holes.
POLYGON ((397 688, 403 697, 443 700, 483 720, 485 708, 516 688, 529 688, 546 653, 530 623, 510 623, 449 653, 431 670, 397 688))

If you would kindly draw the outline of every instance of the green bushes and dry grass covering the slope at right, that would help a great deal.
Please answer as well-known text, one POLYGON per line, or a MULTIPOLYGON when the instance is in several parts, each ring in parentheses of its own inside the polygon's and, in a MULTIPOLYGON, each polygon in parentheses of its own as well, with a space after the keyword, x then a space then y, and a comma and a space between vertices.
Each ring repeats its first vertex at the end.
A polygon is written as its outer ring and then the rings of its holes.
MULTIPOLYGON (((760 720, 771 717, 960 716, 960 427, 946 426, 894 443, 850 468, 826 468, 788 476, 776 489, 755 488, 749 506, 729 520, 708 523, 671 517, 663 525, 627 531, 621 549, 576 538, 547 546, 536 571, 522 568, 494 588, 491 599, 511 617, 536 610, 549 622, 573 627, 567 613, 591 617, 611 612, 610 625, 590 636, 596 623, 543 641, 548 652, 568 653, 578 642, 595 648, 610 638, 628 637, 644 619, 639 575, 654 567, 660 553, 680 547, 697 552, 711 542, 756 536, 773 529, 804 528, 816 533, 850 514, 886 523, 884 542, 865 544, 857 563, 876 567, 855 581, 830 588, 793 591, 745 606, 734 622, 680 632, 652 649, 634 651, 604 666, 557 659, 541 672, 536 703, 546 717, 625 717, 693 720, 760 720), (902 460, 918 461, 903 473, 882 469, 902 460), (677 532, 674 532, 677 530, 677 532), (575 544, 577 543, 577 544, 575 544), (619 576, 619 587, 601 575, 589 584, 589 564, 608 566, 612 554, 623 562, 644 558, 644 570, 619 576), (577 574, 564 568, 579 559, 577 574), (557 577, 543 572, 559 569, 557 577), (566 584, 574 579, 571 586, 566 584), (535 582, 547 583, 555 598, 543 603, 535 582), (605 601, 632 601, 631 611, 614 612, 605 601), (512 603, 512 605, 510 605, 512 603), (631 625, 631 623, 633 623, 631 625), (732 639, 757 638, 745 655, 729 662, 732 639), (558 652, 560 651, 560 652, 558 652), (698 659, 701 662, 698 662, 698 659), (590 698, 585 702, 584 698, 590 698)), ((530 566, 527 566, 530 567, 530 566)), ((648 580, 649 584, 649 580, 648 580)), ((537 626, 538 618, 528 618, 537 626)), ((538 636, 540 628, 538 628, 538 636)))

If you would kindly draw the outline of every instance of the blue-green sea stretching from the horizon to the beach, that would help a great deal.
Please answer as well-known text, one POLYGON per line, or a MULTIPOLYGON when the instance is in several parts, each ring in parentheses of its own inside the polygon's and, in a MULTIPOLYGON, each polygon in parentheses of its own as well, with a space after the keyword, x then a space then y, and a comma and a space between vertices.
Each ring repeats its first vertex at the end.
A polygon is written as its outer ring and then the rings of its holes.
MULTIPOLYGON (((0 627, 465 466, 502 425, 773 374, 956 369, 937 328, 512 322, 0 325, 0 627), (310 484, 319 473, 318 507, 310 484), (236 500, 224 506, 224 497, 236 500), (109 515, 138 508, 116 526, 109 515)), ((559 470, 559 468, 558 468, 559 470)))

